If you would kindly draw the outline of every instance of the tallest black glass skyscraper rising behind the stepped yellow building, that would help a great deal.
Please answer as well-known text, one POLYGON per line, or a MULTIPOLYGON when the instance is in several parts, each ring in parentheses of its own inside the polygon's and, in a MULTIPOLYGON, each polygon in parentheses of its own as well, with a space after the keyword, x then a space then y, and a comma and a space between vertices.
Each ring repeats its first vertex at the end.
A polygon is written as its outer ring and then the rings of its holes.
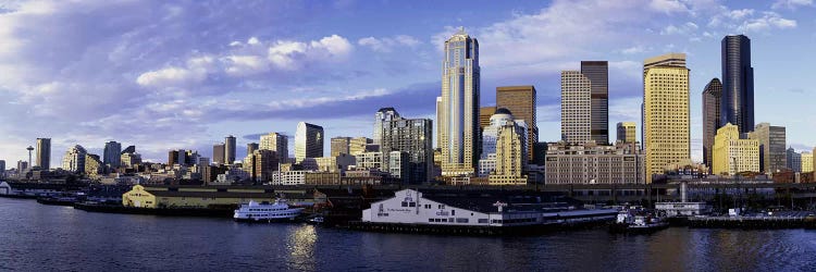
POLYGON ((722 38, 720 124, 726 123, 737 125, 740 134, 754 129, 754 69, 745 35, 722 38))

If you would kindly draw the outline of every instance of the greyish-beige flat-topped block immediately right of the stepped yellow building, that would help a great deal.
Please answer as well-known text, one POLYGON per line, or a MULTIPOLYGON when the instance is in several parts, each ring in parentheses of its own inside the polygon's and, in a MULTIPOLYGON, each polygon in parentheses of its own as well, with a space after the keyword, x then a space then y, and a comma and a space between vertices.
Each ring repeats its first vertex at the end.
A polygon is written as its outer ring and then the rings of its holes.
POLYGON ((759 140, 759 172, 772 174, 788 166, 784 126, 759 123, 747 136, 759 140))

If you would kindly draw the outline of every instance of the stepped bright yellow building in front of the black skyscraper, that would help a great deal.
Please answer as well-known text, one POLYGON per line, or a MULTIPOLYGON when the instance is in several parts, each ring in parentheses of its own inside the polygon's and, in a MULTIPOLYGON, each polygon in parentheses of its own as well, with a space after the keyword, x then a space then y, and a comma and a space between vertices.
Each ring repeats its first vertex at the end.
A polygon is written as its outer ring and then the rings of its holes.
POLYGON ((734 175, 759 172, 759 140, 740 139, 740 129, 728 123, 714 137, 712 173, 734 175))

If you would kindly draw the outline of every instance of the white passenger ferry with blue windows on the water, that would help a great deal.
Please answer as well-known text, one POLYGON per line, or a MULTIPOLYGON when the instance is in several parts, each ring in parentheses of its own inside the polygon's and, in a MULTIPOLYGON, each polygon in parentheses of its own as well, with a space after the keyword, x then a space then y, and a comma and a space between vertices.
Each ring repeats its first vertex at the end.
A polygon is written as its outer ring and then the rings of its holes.
POLYGON ((286 222, 294 221, 302 210, 304 208, 289 207, 286 199, 277 199, 274 203, 250 200, 249 203, 240 205, 233 218, 239 222, 286 222))

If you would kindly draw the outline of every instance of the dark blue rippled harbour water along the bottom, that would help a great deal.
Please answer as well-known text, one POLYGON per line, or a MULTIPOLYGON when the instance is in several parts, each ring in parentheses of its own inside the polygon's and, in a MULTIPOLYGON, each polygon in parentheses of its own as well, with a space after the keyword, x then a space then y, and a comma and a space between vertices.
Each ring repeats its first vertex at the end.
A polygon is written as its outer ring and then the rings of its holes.
POLYGON ((91 213, 5 198, 0 218, 0 270, 811 271, 816 265, 816 231, 805 230, 450 237, 91 213))

